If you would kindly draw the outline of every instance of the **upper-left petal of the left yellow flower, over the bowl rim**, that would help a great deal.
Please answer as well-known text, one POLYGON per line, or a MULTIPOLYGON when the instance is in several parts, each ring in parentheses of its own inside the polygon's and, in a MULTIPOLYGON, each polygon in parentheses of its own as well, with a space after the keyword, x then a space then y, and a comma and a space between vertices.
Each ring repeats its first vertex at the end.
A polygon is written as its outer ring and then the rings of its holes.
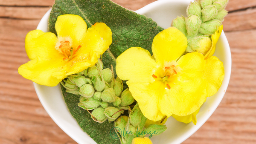
POLYGON ((55 42, 57 37, 51 32, 43 32, 41 30, 30 31, 26 35, 25 49, 30 60, 37 56, 41 58, 54 58, 61 56, 55 50, 55 42))

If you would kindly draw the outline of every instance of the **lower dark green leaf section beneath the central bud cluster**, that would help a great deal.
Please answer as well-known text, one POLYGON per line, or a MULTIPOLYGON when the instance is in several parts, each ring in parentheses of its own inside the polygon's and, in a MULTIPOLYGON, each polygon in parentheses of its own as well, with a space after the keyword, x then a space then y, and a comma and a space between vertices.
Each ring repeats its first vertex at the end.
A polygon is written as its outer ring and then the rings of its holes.
POLYGON ((66 89, 62 85, 61 90, 71 115, 76 119, 81 129, 90 135, 97 144, 120 144, 118 138, 114 139, 111 137, 110 133, 113 132, 111 130, 114 127, 113 123, 105 121, 100 124, 93 121, 90 114, 77 105, 79 103, 78 95, 66 92, 66 89))

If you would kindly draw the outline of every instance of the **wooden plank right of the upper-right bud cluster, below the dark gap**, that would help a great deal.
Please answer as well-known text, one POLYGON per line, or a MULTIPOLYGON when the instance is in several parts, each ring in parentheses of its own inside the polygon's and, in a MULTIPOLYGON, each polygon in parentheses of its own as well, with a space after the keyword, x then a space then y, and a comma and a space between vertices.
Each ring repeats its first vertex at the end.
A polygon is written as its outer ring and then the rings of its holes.
POLYGON ((224 32, 256 29, 256 8, 227 14, 224 19, 224 32))

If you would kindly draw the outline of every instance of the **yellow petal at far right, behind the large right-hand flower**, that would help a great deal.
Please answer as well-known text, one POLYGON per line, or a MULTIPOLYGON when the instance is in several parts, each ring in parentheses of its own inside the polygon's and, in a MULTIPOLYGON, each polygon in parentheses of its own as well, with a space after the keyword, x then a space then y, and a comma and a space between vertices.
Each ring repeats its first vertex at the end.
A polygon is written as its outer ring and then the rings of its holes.
POLYGON ((203 78, 207 81, 207 97, 214 95, 224 79, 224 66, 221 60, 211 56, 206 60, 203 78))

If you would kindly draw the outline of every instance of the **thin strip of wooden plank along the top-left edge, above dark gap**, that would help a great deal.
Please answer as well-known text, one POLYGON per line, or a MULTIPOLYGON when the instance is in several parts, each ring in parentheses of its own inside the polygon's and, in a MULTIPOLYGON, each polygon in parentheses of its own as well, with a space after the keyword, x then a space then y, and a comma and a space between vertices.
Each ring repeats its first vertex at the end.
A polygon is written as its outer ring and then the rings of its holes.
POLYGON ((0 6, 52 6, 55 0, 0 0, 0 6))

